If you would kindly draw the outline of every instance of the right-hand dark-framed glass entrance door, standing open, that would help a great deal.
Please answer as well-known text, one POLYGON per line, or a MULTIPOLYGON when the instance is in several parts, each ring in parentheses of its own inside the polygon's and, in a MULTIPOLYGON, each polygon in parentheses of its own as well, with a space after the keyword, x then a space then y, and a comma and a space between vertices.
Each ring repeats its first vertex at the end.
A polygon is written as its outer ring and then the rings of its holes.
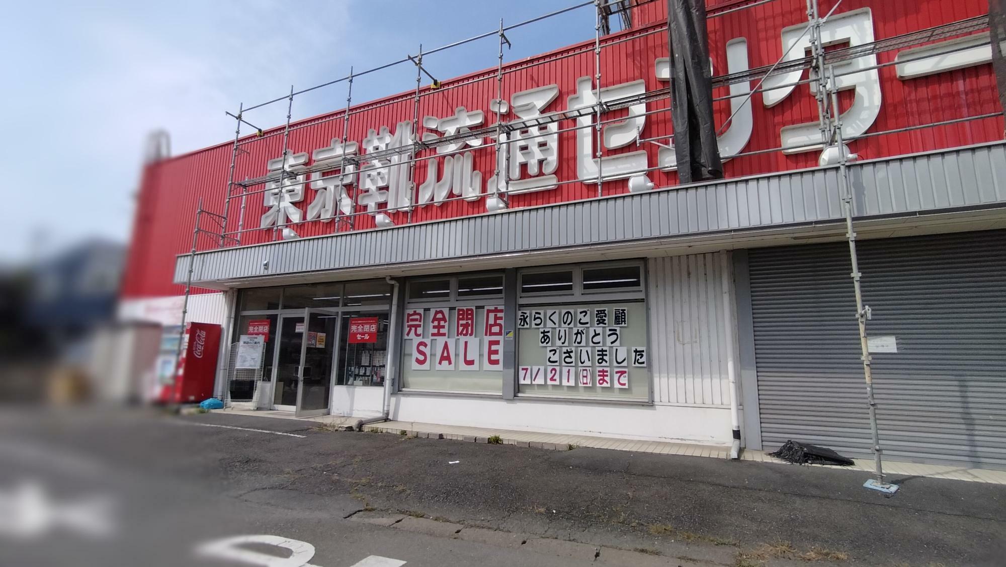
POLYGON ((301 386, 297 398, 297 416, 329 412, 332 392, 332 360, 339 314, 334 310, 306 310, 307 325, 302 333, 301 386))

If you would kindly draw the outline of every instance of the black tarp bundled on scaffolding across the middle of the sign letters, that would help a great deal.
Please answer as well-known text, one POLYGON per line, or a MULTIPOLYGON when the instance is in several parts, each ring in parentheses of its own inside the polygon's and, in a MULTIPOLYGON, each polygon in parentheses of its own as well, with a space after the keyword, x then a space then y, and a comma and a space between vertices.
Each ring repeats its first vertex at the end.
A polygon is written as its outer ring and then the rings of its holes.
POLYGON ((667 26, 678 178, 681 183, 720 179, 704 0, 667 0, 667 26))

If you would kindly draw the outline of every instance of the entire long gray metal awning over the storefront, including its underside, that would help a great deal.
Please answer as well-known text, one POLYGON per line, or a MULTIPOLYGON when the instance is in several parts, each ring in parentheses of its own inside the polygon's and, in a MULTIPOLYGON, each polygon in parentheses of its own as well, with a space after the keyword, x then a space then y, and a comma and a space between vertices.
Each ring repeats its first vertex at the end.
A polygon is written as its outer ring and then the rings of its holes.
MULTIPOLYGON (((920 215, 994 227, 1006 208, 1002 142, 863 161, 849 175, 857 231, 889 232, 920 215)), ((815 168, 219 248, 195 254, 192 284, 222 290, 841 238, 839 179, 837 167, 815 168)), ((185 282, 189 260, 177 256, 175 282, 185 282)))

